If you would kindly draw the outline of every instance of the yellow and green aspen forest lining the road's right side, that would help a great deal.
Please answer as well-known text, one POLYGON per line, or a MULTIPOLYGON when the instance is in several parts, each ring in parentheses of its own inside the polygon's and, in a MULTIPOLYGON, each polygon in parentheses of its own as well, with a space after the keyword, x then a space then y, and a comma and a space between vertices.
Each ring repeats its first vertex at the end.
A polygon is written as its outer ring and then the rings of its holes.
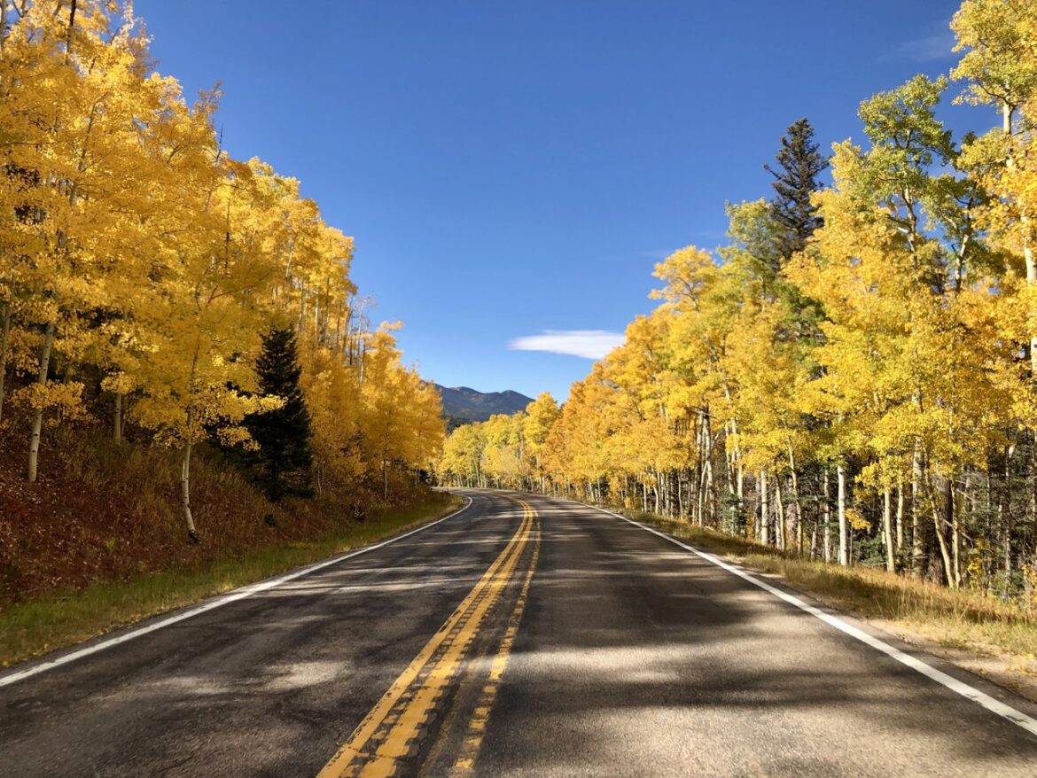
POLYGON ((861 103, 863 143, 791 124, 726 245, 658 263, 658 307, 560 407, 456 429, 440 478, 1033 600, 1037 5, 952 28, 956 66, 861 103), (997 119, 955 138, 945 101, 997 119))

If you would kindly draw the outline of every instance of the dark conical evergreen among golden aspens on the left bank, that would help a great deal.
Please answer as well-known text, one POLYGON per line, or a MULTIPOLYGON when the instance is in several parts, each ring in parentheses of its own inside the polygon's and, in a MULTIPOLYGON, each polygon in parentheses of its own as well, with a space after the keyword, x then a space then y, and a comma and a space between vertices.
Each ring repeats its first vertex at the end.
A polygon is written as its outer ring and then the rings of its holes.
POLYGON ((280 397, 284 405, 248 417, 249 434, 259 446, 251 457, 253 477, 275 502, 286 496, 310 497, 310 414, 299 386, 302 368, 293 330, 274 328, 263 335, 256 373, 260 393, 280 397))

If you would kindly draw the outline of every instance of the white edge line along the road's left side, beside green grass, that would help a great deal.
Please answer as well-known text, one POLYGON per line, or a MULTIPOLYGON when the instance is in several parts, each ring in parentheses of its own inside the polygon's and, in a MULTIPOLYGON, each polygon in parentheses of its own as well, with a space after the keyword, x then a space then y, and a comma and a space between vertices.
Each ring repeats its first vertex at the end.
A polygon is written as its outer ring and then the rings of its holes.
POLYGON ((148 624, 147 627, 141 627, 140 629, 137 630, 131 630, 130 632, 123 633, 122 635, 118 635, 117 637, 110 638, 108 640, 102 640, 97 643, 94 643, 93 645, 88 645, 85 648, 80 648, 79 650, 72 651, 71 654, 65 654, 55 659, 43 661, 39 664, 26 668, 25 670, 12 672, 9 675, 4 675, 0 677, 0 687, 9 686, 10 684, 16 684, 19 680, 24 680, 25 678, 28 678, 32 675, 44 672, 46 670, 52 670, 55 667, 60 667, 61 665, 66 665, 69 662, 75 662, 76 660, 83 659, 84 657, 89 657, 91 654, 96 654, 97 651, 102 651, 106 648, 111 648, 112 646, 118 645, 120 643, 125 643, 127 641, 133 640, 134 638, 139 638, 141 635, 146 635, 149 632, 155 632, 156 630, 161 630, 164 627, 169 627, 170 624, 174 624, 177 621, 184 621, 185 619, 193 618, 195 616, 201 615, 202 613, 206 613, 207 611, 215 610, 216 608, 219 608, 223 605, 227 605, 228 603, 234 603, 237 602, 239 600, 244 600, 245 598, 257 594, 260 591, 267 591, 268 589, 273 589, 274 587, 280 586, 283 583, 287 583, 288 581, 292 581, 297 578, 302 578, 303 576, 309 575, 310 573, 315 573, 318 569, 330 567, 333 564, 344 562, 346 559, 352 559, 355 556, 366 554, 369 551, 377 551, 379 549, 384 548, 389 544, 396 543, 397 540, 402 540, 404 537, 410 537, 411 535, 417 532, 422 532, 428 529, 429 527, 435 527, 437 524, 442 524, 448 519, 453 519, 461 511, 467 510, 469 507, 471 507, 472 498, 465 496, 465 499, 468 500, 468 502, 465 503, 465 505, 459 507, 457 510, 450 513, 449 516, 445 516, 442 519, 437 519, 435 522, 429 522, 428 524, 423 524, 420 527, 416 527, 415 529, 410 530, 409 532, 404 532, 401 535, 395 535, 387 540, 382 540, 381 543, 376 543, 373 546, 365 546, 362 549, 351 551, 346 554, 342 554, 341 556, 336 556, 332 559, 326 559, 325 561, 317 562, 316 564, 309 564, 306 565, 305 567, 299 567, 298 569, 295 569, 291 573, 286 573, 283 576, 278 576, 277 578, 270 578, 265 581, 260 581, 259 583, 243 586, 240 589, 234 589, 233 591, 227 594, 223 594, 222 596, 218 596, 215 600, 209 600, 204 605, 199 605, 196 608, 191 608, 189 610, 183 611, 174 616, 161 618, 158 621, 148 624))

